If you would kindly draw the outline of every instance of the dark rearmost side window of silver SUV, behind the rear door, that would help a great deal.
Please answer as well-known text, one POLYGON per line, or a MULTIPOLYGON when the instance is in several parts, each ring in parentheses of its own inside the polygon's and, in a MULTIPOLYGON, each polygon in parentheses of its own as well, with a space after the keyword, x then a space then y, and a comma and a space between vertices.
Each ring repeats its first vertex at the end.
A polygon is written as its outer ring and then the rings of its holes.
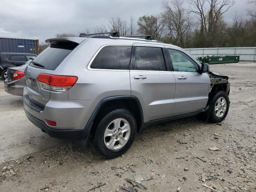
POLYGON ((100 50, 92 61, 93 69, 128 70, 132 46, 106 46, 100 50))

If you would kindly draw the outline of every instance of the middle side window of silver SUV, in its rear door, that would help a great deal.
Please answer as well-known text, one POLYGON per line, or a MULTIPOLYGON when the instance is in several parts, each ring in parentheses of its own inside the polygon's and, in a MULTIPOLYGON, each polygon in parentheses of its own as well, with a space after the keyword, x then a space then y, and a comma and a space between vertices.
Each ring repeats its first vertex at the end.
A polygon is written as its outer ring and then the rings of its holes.
POLYGON ((165 71, 162 48, 136 46, 134 70, 165 71))

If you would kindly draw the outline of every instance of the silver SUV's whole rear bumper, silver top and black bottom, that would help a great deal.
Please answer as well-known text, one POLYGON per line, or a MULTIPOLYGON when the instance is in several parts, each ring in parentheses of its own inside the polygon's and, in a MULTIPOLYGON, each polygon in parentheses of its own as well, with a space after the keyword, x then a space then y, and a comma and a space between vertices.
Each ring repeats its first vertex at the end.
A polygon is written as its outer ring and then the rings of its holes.
MULTIPOLYGON (((88 120, 97 101, 56 100, 54 96, 42 108, 28 97, 26 87, 23 91, 23 108, 28 119, 41 130, 54 138, 83 140, 88 137, 92 123, 88 120), (56 122, 50 126, 46 120, 56 122)), ((61 95, 58 95, 61 98, 61 95)))

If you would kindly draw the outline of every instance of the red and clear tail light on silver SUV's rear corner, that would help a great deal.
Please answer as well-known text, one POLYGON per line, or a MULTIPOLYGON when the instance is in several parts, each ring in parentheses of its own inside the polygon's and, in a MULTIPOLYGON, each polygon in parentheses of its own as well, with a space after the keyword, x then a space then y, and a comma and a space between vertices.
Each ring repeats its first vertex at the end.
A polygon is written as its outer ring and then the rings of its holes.
POLYGON ((76 76, 62 76, 40 73, 37 81, 41 87, 51 91, 68 92, 77 81, 76 76))

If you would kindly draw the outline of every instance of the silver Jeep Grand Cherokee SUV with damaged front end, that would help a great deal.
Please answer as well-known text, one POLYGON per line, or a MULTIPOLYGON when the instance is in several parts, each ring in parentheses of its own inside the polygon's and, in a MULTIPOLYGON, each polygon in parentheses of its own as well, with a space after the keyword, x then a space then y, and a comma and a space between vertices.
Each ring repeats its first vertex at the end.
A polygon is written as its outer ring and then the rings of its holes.
POLYGON ((28 119, 43 132, 89 140, 115 158, 148 125, 197 114, 224 120, 227 76, 180 47, 113 34, 46 40, 25 70, 23 95, 28 119))

